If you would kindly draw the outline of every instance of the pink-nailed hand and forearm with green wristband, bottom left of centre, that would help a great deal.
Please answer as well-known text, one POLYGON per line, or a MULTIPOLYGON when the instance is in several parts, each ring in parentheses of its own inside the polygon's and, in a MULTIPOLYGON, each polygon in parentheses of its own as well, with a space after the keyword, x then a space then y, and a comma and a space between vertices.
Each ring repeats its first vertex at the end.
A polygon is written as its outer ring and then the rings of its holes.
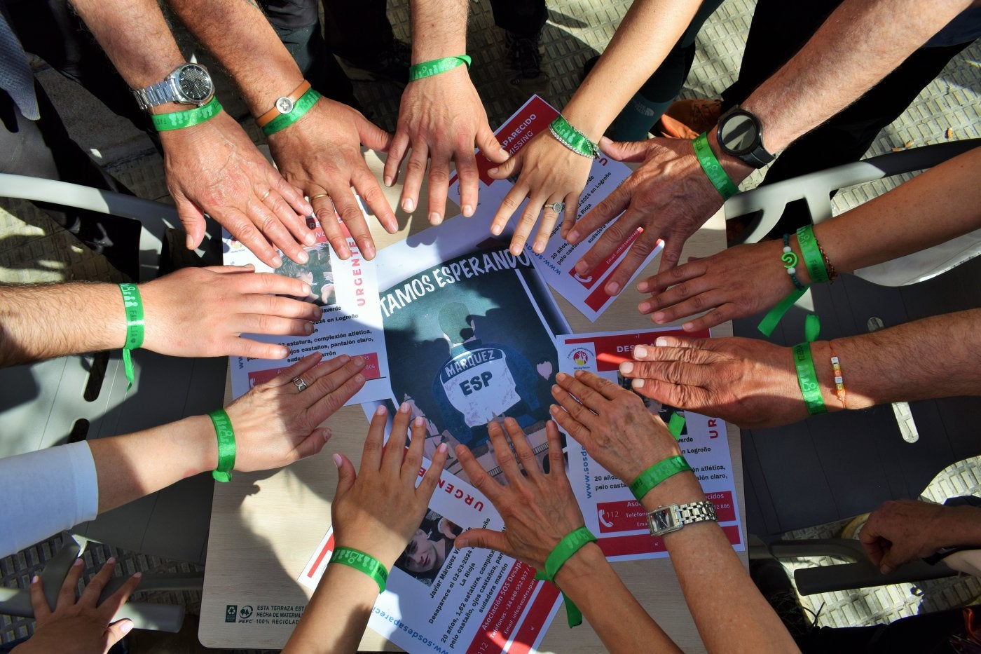
POLYGON ((357 472, 346 457, 334 455, 337 491, 331 518, 335 551, 303 619, 286 643, 286 653, 355 651, 388 572, 426 516, 447 448, 439 446, 417 487, 425 421, 421 417, 412 420, 411 408, 403 404, 392 418, 391 434, 383 445, 386 423, 387 410, 381 407, 372 416, 357 472), (410 420, 412 438, 406 449, 410 420))

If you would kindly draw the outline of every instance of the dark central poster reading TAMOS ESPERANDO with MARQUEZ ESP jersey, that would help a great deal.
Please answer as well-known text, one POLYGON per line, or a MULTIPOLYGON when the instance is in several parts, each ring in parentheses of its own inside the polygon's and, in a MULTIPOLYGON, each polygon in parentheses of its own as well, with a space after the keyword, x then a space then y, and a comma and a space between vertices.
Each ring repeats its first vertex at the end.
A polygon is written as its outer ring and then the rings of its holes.
POLYGON ((569 330, 527 252, 515 256, 495 240, 460 246, 466 233, 454 236, 450 227, 440 226, 435 243, 379 254, 387 400, 426 418, 427 456, 446 443, 447 470, 467 478, 453 454, 462 444, 496 476, 492 420, 513 417, 540 460, 547 457, 554 337, 569 330))

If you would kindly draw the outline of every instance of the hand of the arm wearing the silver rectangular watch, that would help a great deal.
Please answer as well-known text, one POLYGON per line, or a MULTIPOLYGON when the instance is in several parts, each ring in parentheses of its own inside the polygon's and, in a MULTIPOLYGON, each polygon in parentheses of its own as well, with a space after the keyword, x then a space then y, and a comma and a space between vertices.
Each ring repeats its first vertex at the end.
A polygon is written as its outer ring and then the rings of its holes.
POLYGON ((594 460, 628 486, 654 463, 681 454, 664 422, 644 402, 592 372, 555 376, 556 422, 594 460))

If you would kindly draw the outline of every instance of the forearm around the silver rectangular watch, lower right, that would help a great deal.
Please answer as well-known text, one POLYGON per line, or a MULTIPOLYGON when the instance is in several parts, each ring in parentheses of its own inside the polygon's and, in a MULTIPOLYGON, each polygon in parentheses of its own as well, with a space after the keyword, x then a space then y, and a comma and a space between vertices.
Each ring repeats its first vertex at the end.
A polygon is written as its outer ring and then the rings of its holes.
MULTIPOLYGON (((649 491, 645 511, 705 499, 692 472, 649 491)), ((664 535, 664 545, 702 641, 709 652, 793 652, 794 639, 766 603, 717 522, 688 524, 664 535)))

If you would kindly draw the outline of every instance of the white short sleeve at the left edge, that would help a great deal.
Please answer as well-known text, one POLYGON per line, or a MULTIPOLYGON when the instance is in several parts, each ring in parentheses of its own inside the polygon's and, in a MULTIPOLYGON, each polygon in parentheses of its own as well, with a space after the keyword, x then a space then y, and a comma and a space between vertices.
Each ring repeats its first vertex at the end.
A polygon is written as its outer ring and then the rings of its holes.
POLYGON ((0 557, 95 518, 99 484, 88 443, 0 459, 0 498, 0 557))

